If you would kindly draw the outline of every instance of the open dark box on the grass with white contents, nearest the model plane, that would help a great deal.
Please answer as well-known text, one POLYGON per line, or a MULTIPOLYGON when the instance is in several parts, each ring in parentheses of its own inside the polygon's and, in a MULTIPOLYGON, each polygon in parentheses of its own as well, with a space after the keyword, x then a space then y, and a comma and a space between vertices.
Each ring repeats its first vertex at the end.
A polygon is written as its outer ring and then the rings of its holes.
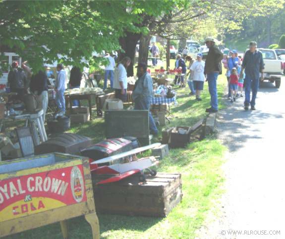
POLYGON ((190 142, 190 127, 179 126, 172 129, 170 134, 170 146, 173 148, 176 147, 185 147, 187 143, 190 142), (181 133, 180 131, 185 131, 181 133))

